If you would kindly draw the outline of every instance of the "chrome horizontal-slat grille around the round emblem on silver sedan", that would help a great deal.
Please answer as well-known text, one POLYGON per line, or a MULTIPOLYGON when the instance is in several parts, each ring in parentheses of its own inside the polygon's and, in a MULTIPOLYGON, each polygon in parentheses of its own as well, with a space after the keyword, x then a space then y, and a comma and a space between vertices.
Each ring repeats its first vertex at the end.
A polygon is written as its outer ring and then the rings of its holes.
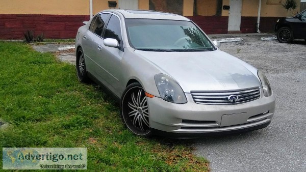
POLYGON ((198 104, 239 104, 259 99, 260 90, 257 87, 230 91, 192 91, 191 96, 198 104), (237 96, 238 99, 231 102, 230 96, 237 96))

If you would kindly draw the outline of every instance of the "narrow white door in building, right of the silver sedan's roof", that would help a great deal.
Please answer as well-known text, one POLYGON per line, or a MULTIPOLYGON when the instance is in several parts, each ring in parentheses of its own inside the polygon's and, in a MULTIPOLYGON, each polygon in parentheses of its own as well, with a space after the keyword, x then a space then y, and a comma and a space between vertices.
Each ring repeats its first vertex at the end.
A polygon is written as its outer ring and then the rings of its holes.
POLYGON ((230 12, 228 14, 228 31, 240 31, 241 0, 230 0, 230 12))

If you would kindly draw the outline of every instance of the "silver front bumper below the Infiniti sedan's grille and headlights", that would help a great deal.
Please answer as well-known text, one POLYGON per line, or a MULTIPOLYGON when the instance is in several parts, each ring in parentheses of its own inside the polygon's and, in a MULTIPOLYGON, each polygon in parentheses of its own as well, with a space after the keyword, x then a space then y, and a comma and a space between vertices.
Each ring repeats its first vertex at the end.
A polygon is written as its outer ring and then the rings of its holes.
POLYGON ((186 93, 187 103, 175 104, 161 98, 148 98, 149 122, 153 131, 169 134, 236 132, 269 125, 275 109, 275 96, 263 96, 235 105, 194 103, 186 93))

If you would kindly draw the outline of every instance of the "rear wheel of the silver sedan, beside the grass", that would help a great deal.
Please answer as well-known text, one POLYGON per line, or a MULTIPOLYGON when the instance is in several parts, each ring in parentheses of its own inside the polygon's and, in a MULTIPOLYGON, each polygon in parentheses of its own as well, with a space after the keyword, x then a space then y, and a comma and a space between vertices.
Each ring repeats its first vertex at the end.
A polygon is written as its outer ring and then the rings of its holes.
POLYGON ((90 79, 87 76, 85 58, 82 48, 77 50, 77 58, 75 61, 75 68, 77 69, 77 75, 80 82, 88 82, 90 79))

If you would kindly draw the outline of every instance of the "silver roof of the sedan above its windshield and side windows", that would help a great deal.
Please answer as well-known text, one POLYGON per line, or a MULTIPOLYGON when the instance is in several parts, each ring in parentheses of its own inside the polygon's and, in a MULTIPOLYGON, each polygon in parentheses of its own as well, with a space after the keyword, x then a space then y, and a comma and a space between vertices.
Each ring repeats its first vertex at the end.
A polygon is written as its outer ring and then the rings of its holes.
POLYGON ((101 12, 118 12, 121 13, 124 18, 140 18, 140 19, 165 19, 165 20, 183 20, 190 21, 190 19, 172 13, 151 11, 151 10, 122 10, 122 9, 111 9, 101 12))

